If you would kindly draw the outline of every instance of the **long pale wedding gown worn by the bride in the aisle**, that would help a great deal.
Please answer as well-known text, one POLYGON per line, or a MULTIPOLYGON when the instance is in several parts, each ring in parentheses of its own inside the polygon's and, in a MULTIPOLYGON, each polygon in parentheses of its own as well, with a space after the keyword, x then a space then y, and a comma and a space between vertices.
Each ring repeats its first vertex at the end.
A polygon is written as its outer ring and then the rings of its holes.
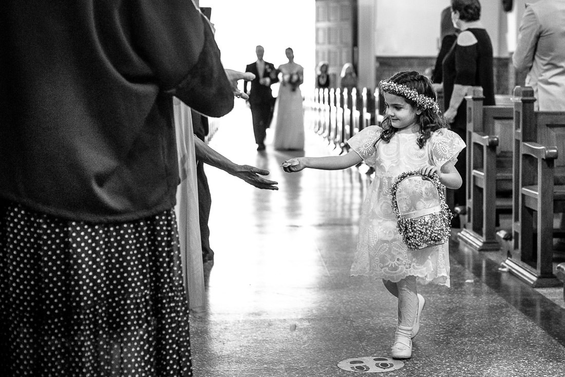
MULTIPOLYGON (((301 68, 301 67, 300 67, 301 68)), ((275 111, 271 129, 274 129, 273 146, 276 150, 304 149, 304 113, 302 109, 302 93, 297 86, 292 90, 288 83, 290 76, 296 72, 285 72, 282 68, 282 82, 279 96, 275 102, 275 111)))

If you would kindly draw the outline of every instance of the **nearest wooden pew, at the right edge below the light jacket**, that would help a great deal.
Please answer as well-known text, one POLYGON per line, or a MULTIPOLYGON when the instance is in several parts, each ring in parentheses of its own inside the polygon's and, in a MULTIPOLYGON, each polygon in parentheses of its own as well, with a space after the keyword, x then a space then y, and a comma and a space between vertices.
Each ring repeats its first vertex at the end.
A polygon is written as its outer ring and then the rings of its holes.
POLYGON ((533 287, 558 285, 554 213, 565 212, 565 112, 534 111, 533 90, 514 89, 512 249, 505 265, 533 287), (561 151, 558 153, 558 151, 561 151))

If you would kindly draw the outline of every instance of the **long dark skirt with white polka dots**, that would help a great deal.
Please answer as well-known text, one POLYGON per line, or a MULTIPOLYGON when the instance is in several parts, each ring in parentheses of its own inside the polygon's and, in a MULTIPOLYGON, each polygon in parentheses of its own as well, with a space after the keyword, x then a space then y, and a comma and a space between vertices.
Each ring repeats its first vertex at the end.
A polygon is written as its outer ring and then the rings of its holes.
POLYGON ((90 224, 0 202, 0 374, 192 376, 174 211, 90 224))

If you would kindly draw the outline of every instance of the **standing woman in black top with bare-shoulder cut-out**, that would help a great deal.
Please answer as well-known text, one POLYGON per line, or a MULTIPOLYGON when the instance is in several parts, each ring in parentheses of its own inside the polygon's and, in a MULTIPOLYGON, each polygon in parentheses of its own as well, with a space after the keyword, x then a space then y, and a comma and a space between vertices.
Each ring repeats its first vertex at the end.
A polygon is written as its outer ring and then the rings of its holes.
MULTIPOLYGON (((451 20, 461 32, 444 58, 444 117, 451 129, 466 140, 466 104, 463 101, 471 86, 481 86, 485 105, 494 105, 493 47, 480 21, 479 0, 451 0, 451 20)), ((455 168, 466 176, 466 158, 461 155, 455 168)), ((454 192, 454 206, 466 205, 465 185, 454 192)), ((458 218, 452 226, 458 227, 458 218)))

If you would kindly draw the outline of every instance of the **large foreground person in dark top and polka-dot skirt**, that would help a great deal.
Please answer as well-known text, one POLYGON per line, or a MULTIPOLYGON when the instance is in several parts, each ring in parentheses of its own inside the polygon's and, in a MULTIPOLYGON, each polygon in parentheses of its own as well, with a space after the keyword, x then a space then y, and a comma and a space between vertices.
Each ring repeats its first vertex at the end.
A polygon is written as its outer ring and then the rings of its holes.
POLYGON ((0 28, 2 373, 191 376, 173 96, 223 116, 244 75, 191 1, 7 0, 0 28))

